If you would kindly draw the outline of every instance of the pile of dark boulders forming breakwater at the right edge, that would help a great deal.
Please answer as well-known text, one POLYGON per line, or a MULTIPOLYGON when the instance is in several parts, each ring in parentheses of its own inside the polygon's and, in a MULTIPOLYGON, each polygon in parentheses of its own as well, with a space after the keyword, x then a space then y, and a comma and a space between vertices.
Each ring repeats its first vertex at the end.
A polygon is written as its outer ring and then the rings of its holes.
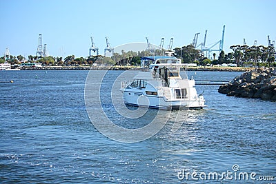
POLYGON ((276 101, 276 68, 256 68, 219 86, 220 93, 276 101))

